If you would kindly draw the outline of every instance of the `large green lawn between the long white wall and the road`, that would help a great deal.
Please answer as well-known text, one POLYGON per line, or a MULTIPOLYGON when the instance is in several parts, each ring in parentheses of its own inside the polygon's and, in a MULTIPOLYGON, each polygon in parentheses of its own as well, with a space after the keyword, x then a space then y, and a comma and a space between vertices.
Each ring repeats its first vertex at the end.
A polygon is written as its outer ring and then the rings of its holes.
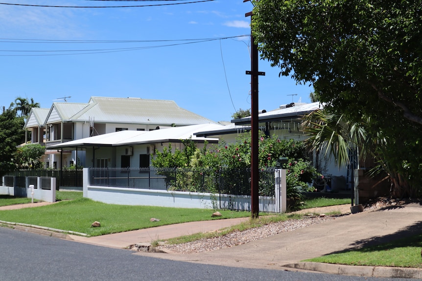
MULTIPOLYGON (((211 217, 213 212, 210 209, 112 205, 79 198, 37 208, 0 211, 0 220, 98 236, 188 221, 218 219, 211 217), (151 222, 152 217, 160 221, 151 222), (94 221, 99 221, 101 227, 91 227, 94 221)), ((219 212, 222 214, 221 218, 250 216, 249 212, 228 210, 219 212)))

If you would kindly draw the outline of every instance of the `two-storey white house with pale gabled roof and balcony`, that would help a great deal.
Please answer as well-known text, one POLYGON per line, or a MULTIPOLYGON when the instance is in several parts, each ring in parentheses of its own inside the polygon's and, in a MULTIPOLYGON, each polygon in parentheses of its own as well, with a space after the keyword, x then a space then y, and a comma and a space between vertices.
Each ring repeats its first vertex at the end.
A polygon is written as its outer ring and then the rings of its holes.
POLYGON ((85 151, 58 151, 51 146, 121 130, 150 131, 215 122, 180 108, 174 101, 141 98, 91 97, 88 103, 56 102, 32 108, 24 129, 31 143, 46 146, 46 168, 85 166, 85 151))

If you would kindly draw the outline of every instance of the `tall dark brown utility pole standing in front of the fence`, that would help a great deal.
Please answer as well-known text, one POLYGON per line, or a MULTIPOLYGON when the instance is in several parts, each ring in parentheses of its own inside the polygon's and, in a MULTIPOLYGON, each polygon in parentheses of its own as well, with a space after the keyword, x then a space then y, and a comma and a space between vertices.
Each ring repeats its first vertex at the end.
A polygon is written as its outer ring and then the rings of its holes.
MULTIPOLYGON (((248 1, 248 0, 245 0, 248 1)), ((246 13, 245 17, 251 17, 252 12, 246 13)), ((265 72, 258 71, 258 45, 254 42, 251 30, 251 216, 259 216, 259 169, 258 169, 258 143, 259 143, 259 122, 258 122, 258 76, 265 75, 265 72)))

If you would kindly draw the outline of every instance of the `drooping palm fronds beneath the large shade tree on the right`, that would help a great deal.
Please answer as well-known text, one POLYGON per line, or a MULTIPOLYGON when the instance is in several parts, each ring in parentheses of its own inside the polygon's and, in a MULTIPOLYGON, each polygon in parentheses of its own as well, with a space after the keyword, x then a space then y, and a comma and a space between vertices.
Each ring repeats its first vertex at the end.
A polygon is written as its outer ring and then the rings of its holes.
POLYGON ((361 122, 351 122, 343 115, 318 109, 303 118, 304 131, 309 136, 305 144, 314 151, 325 150, 325 154, 334 157, 339 167, 350 163, 349 151, 356 151, 358 160, 362 161, 370 156, 376 164, 371 174, 387 173, 384 179, 390 180, 391 195, 417 195, 418 188, 410 185, 403 163, 392 157, 397 150, 394 140, 386 139, 380 131, 371 133, 371 124, 370 118, 362 117, 361 122))

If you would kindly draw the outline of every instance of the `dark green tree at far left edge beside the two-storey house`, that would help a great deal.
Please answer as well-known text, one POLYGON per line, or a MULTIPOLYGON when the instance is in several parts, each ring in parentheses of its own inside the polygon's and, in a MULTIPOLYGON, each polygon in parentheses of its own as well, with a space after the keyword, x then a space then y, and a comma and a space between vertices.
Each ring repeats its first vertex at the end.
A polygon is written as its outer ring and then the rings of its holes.
POLYGON ((6 109, 0 115, 0 170, 16 168, 16 147, 25 141, 23 117, 16 117, 16 110, 6 109))

